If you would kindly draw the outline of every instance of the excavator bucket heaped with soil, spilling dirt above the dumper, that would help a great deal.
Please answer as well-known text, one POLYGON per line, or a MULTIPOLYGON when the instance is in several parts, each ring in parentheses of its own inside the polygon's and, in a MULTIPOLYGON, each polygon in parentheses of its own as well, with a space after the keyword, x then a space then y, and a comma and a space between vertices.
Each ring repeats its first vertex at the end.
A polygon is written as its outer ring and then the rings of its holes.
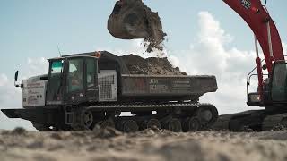
POLYGON ((143 38, 148 50, 162 50, 161 43, 166 34, 162 31, 158 13, 151 11, 142 0, 117 1, 108 21, 109 33, 115 38, 143 38))

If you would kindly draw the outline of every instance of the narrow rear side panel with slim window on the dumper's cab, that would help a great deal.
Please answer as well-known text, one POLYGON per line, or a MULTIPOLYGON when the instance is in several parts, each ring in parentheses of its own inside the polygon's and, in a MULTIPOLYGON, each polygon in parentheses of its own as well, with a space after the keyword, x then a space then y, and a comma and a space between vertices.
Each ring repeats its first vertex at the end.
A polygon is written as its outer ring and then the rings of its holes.
POLYGON ((98 65, 97 59, 87 57, 85 59, 85 89, 86 98, 89 102, 99 101, 99 87, 98 87, 98 65))

